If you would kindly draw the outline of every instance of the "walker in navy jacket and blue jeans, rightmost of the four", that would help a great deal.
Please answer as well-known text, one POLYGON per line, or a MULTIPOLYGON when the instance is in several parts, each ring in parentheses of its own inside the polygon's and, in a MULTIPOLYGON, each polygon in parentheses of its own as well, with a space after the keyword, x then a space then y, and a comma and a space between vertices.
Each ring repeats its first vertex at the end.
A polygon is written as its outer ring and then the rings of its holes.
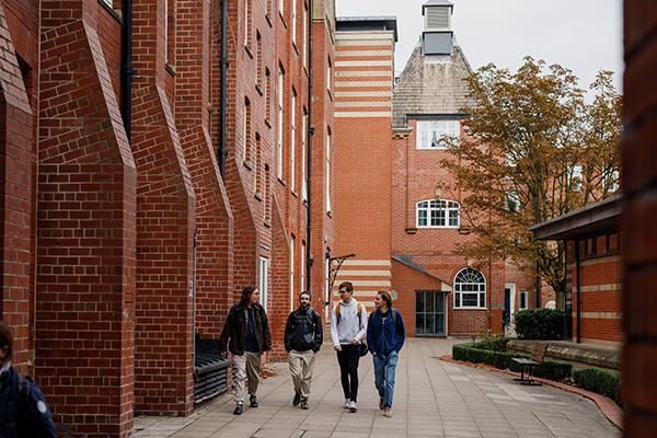
POLYGON ((374 385, 379 391, 379 410, 392 417, 394 372, 400 350, 406 339, 402 314, 392 307, 390 292, 380 290, 374 298, 376 310, 367 324, 367 345, 374 362, 374 385))

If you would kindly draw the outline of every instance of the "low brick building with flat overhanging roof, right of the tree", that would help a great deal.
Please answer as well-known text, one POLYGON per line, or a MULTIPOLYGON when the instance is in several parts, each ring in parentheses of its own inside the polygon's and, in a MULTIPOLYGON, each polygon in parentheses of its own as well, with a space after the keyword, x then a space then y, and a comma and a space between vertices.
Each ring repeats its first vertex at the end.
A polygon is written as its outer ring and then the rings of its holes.
POLYGON ((622 198, 613 196, 531 229, 538 240, 566 242, 566 285, 557 306, 572 316, 575 342, 618 346, 623 339, 622 198))

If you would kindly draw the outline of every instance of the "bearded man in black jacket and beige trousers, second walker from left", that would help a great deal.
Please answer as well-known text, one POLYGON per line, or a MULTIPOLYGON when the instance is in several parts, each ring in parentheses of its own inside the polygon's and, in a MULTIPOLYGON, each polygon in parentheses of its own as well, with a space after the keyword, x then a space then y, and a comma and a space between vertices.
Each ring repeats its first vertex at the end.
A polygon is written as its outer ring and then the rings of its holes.
POLYGON ((310 293, 303 291, 299 293, 299 308, 290 312, 285 326, 285 349, 295 383, 292 405, 302 410, 308 410, 314 358, 323 341, 322 319, 310 307, 310 293))

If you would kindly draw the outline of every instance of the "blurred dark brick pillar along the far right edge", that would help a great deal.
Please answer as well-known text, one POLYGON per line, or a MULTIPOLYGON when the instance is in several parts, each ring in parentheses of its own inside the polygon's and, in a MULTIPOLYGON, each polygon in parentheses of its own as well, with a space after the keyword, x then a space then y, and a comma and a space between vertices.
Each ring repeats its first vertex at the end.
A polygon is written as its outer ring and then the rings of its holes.
POLYGON ((624 435, 647 438, 657 436, 657 3, 624 8, 624 435))

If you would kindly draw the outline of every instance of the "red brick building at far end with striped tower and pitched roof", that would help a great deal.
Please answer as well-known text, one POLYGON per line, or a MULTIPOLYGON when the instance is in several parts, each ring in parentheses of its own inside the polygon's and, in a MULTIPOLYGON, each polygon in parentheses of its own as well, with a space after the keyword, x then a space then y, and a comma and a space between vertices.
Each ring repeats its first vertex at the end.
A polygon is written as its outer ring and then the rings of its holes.
POLYGON ((527 272, 504 261, 473 266, 457 253, 473 239, 461 194, 438 189, 453 187, 439 139, 464 135, 471 105, 452 10, 445 0, 423 5, 425 30, 396 81, 394 19, 337 22, 335 241, 339 254, 356 254, 338 280, 368 304, 377 290, 395 291, 410 335, 499 333, 505 312, 512 324, 535 303, 527 272))

